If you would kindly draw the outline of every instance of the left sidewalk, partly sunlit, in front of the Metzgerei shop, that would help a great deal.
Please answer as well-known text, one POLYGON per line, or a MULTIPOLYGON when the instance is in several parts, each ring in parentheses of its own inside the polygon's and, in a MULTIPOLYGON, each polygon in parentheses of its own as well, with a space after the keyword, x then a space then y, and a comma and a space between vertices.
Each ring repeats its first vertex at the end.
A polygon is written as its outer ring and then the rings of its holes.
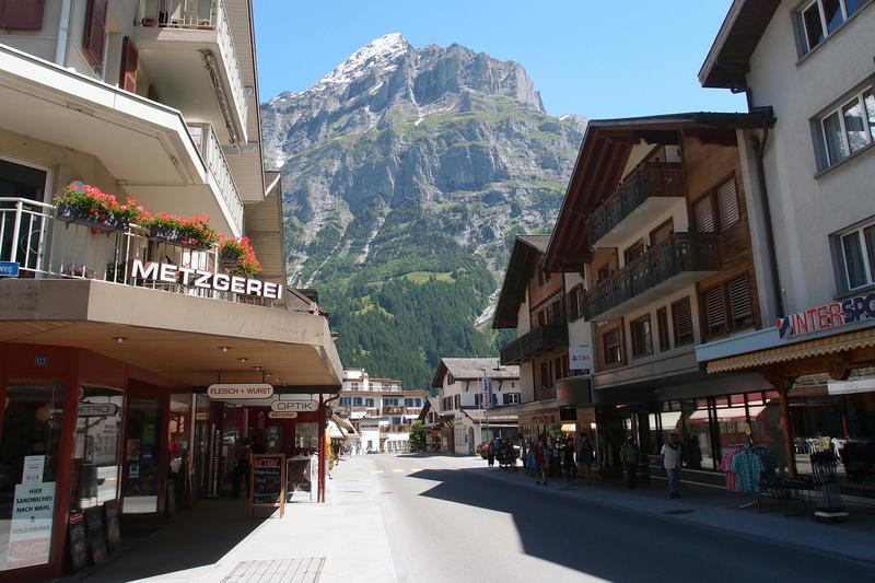
POLYGON ((59 581, 393 583, 371 470, 340 464, 327 504, 287 504, 283 518, 279 509, 250 518, 244 500, 202 500, 144 536, 122 533, 124 549, 106 563, 59 581))

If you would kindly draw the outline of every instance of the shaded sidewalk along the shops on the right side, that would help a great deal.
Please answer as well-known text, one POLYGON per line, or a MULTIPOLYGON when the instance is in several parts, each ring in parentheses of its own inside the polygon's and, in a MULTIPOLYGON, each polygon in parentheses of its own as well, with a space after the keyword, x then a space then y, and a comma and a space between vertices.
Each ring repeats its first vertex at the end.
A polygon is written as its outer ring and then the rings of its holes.
MULTIPOLYGON (((477 473, 498 482, 512 482, 536 492, 549 491, 582 502, 611 506, 619 510, 658 515, 678 523, 698 524, 711 528, 731 530, 740 535, 768 539, 785 545, 803 547, 814 552, 835 555, 849 559, 875 563, 875 508, 849 505, 850 516, 842 522, 816 523, 806 515, 784 516, 778 502, 767 499, 765 506, 772 512, 759 512, 755 506, 739 508, 754 500, 752 494, 727 492, 720 488, 708 488, 684 483, 682 499, 672 500, 666 492, 665 480, 653 478, 650 483, 639 483, 628 490, 621 480, 593 480, 585 485, 579 479, 574 486, 564 478, 549 486, 538 486, 535 479, 517 471, 489 468, 479 457, 443 457, 446 465, 456 469, 477 473)), ((801 505, 792 503, 791 512, 801 512, 801 505)))

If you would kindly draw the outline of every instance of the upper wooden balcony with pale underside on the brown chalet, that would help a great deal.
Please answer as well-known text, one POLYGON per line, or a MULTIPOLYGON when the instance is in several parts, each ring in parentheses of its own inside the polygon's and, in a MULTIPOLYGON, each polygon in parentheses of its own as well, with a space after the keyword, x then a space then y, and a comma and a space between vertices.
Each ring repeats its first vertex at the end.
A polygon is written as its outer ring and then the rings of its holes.
POLYGON ((630 174, 586 221, 591 245, 616 247, 685 196, 682 164, 648 162, 630 174))

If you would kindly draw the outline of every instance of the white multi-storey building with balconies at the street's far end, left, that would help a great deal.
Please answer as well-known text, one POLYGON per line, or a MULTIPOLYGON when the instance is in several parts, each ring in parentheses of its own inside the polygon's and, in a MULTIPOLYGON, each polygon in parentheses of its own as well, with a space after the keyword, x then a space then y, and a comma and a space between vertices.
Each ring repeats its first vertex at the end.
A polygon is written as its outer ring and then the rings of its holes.
POLYGON ((355 429, 350 443, 353 453, 407 452, 410 425, 419 419, 428 398, 425 389, 406 389, 400 381, 347 369, 335 411, 355 429))

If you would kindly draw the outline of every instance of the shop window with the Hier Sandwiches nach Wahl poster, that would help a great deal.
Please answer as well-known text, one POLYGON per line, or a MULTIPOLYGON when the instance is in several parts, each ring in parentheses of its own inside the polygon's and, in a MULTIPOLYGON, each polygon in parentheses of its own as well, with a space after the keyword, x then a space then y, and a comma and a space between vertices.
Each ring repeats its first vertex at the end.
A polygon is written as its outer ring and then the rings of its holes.
POLYGON ((0 442, 0 571, 49 562, 65 394, 62 383, 13 380, 8 385, 0 442), (32 495, 43 499, 46 510, 25 510, 32 495))

